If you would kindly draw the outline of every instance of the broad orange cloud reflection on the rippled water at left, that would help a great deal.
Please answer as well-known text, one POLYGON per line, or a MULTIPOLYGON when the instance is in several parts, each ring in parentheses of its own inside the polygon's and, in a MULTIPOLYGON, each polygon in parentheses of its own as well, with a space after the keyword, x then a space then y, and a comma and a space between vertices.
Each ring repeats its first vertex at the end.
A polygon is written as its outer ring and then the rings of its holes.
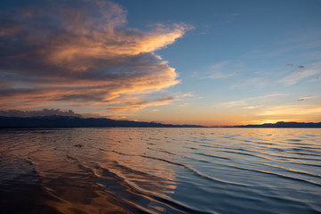
POLYGON ((175 172, 150 149, 152 141, 163 136, 150 139, 144 132, 127 136, 114 130, 73 129, 66 136, 38 139, 41 149, 29 159, 48 195, 41 199, 45 204, 66 214, 165 209, 153 196, 169 198, 167 194, 174 193, 175 172))

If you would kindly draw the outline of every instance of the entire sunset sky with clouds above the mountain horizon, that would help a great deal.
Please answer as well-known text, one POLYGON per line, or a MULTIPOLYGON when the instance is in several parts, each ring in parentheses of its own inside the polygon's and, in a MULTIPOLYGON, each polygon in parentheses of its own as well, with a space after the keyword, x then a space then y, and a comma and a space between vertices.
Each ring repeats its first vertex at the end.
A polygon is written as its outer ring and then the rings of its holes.
POLYGON ((318 0, 2 1, 0 113, 320 122, 320 10, 318 0))

